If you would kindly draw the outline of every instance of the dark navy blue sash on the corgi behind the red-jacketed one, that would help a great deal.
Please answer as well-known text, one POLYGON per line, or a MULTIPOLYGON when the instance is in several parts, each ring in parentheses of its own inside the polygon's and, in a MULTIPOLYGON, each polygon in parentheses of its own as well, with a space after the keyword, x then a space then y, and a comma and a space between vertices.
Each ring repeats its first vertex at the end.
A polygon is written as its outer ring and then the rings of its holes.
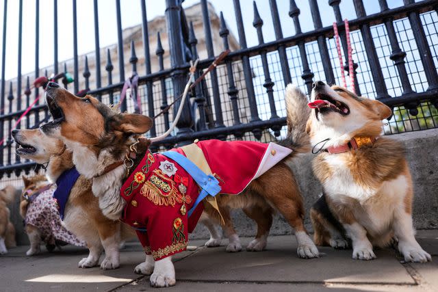
POLYGON ((57 209, 60 211, 61 220, 64 220, 64 211, 70 196, 70 191, 75 185, 77 178, 79 178, 79 172, 76 168, 71 168, 62 172, 59 178, 56 180, 56 190, 53 193, 53 198, 56 199, 57 209))

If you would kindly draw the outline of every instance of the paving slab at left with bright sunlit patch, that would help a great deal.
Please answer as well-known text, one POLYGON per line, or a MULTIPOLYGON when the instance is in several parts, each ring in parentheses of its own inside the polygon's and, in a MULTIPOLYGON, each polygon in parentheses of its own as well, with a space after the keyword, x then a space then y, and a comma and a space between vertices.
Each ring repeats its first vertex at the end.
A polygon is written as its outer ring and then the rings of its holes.
MULTIPOLYGON (((25 256, 26 250, 21 246, 0 256, 0 291, 109 291, 139 278, 133 269, 144 261, 144 252, 137 243, 128 244, 123 250, 118 269, 106 271, 100 267, 78 268, 81 258, 88 256, 88 250, 83 248, 68 245, 62 252, 36 256, 25 256)), ((181 252, 175 261, 190 253, 181 252)))

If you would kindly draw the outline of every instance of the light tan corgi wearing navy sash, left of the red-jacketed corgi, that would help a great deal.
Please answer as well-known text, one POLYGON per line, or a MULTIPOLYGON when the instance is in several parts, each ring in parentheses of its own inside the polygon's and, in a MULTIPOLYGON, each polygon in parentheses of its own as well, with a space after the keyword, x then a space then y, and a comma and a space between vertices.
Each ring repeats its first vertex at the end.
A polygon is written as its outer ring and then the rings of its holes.
MULTIPOLYGON (((62 174, 73 168, 73 154, 61 140, 46 137, 39 129, 14 130, 12 137, 18 144, 16 154, 36 163, 46 164, 46 175, 55 183, 62 174)), ((90 251, 78 266, 99 265, 105 250, 101 269, 116 269, 120 265, 119 246, 135 237, 133 230, 117 220, 110 220, 99 209, 99 199, 92 194, 92 181, 79 176, 70 190, 64 209, 64 226, 79 239, 86 241, 90 251)))

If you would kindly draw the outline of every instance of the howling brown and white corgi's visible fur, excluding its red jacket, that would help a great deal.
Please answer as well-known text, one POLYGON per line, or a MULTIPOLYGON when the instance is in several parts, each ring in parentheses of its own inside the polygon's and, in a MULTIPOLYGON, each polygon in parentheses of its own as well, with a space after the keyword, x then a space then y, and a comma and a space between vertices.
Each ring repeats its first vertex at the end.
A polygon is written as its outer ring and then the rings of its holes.
MULTIPOLYGON (((120 188, 128 176, 127 169, 120 161, 125 159, 130 146, 136 144, 138 137, 149 131, 151 118, 138 114, 120 114, 96 98, 79 98, 56 83, 49 83, 46 90, 53 122, 45 124, 42 131, 50 137, 62 139, 73 150, 73 162, 77 170, 87 178, 94 178, 92 190, 99 197, 103 213, 113 220, 118 219, 126 204, 120 196, 120 188)), ((294 94, 295 88, 287 88, 287 96, 294 94)), ((289 135, 282 145, 294 149, 292 155, 289 155, 292 157, 308 149, 309 140, 304 132, 307 116, 300 118, 297 112, 309 113, 309 109, 305 101, 291 98, 287 98, 287 109, 287 118, 291 122, 289 135)), ((139 145, 136 163, 142 160, 149 143, 142 142, 139 145)), ((224 217, 224 228, 226 232, 228 230, 229 237, 235 237, 235 242, 238 237, 229 217, 231 208, 244 209, 257 222, 257 237, 250 243, 248 250, 265 248, 272 224, 272 211, 277 209, 296 231, 298 256, 318 257, 318 250, 303 224, 304 208, 298 184, 292 170, 285 164, 285 159, 251 182, 239 196, 219 196, 218 205, 224 217)), ((217 217, 214 209, 206 207, 205 211, 210 217, 217 217)), ((175 284, 175 269, 170 256, 154 262, 153 256, 146 255, 146 261, 139 266, 142 267, 142 273, 153 273, 150 280, 154 287, 175 284)))

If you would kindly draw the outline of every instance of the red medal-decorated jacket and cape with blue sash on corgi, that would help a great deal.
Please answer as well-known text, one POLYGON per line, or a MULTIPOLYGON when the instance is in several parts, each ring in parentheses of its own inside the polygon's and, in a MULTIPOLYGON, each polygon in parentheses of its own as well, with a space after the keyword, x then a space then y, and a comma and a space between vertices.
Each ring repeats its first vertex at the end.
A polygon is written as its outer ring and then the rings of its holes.
POLYGON ((200 202, 218 209, 216 194, 240 194, 291 152, 273 143, 220 140, 148 151, 120 190, 127 202, 122 220, 136 228, 155 261, 181 252, 203 211, 200 202))

